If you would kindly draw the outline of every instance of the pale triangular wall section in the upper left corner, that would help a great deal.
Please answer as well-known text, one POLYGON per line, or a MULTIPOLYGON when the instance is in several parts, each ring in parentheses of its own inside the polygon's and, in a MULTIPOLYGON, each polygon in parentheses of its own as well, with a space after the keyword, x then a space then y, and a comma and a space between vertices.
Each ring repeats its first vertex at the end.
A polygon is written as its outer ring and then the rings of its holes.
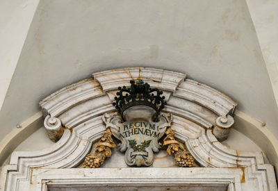
POLYGON ((0 110, 39 0, 0 1, 0 110))

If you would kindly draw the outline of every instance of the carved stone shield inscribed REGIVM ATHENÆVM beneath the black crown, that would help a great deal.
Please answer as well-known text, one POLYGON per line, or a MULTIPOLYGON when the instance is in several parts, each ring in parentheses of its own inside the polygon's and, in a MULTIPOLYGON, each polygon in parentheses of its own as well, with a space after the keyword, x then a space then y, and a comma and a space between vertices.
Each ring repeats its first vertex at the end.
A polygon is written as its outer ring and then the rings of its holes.
MULTIPOLYGON (((164 135, 172 122, 172 115, 158 116, 158 122, 152 121, 153 110, 144 106, 134 106, 135 110, 126 111, 126 115, 135 117, 121 122, 117 113, 104 115, 106 128, 111 128, 113 135, 119 140, 120 151, 125 151, 127 165, 149 166, 154 162, 154 152, 160 148, 158 140, 164 135), (149 115, 146 115, 148 113, 149 115)), ((126 117, 131 118, 131 117, 126 117)))

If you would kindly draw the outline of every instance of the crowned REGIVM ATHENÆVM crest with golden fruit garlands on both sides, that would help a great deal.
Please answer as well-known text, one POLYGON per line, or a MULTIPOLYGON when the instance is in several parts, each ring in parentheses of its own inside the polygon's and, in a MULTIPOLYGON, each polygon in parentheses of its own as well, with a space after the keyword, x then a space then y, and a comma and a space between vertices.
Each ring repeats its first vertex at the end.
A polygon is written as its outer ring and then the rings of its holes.
POLYGON ((106 132, 97 144, 95 153, 85 158, 83 167, 99 167, 105 158, 111 156, 111 148, 115 147, 111 135, 121 141, 120 151, 125 151, 125 162, 130 166, 149 166, 154 162, 154 152, 158 152, 158 143, 163 135, 163 146, 167 153, 174 156, 181 167, 193 167, 195 162, 185 148, 175 140, 170 126, 172 113, 161 113, 165 105, 163 92, 150 88, 141 79, 130 81, 131 87, 119 87, 113 106, 118 112, 105 113, 102 116, 106 124, 106 132))

